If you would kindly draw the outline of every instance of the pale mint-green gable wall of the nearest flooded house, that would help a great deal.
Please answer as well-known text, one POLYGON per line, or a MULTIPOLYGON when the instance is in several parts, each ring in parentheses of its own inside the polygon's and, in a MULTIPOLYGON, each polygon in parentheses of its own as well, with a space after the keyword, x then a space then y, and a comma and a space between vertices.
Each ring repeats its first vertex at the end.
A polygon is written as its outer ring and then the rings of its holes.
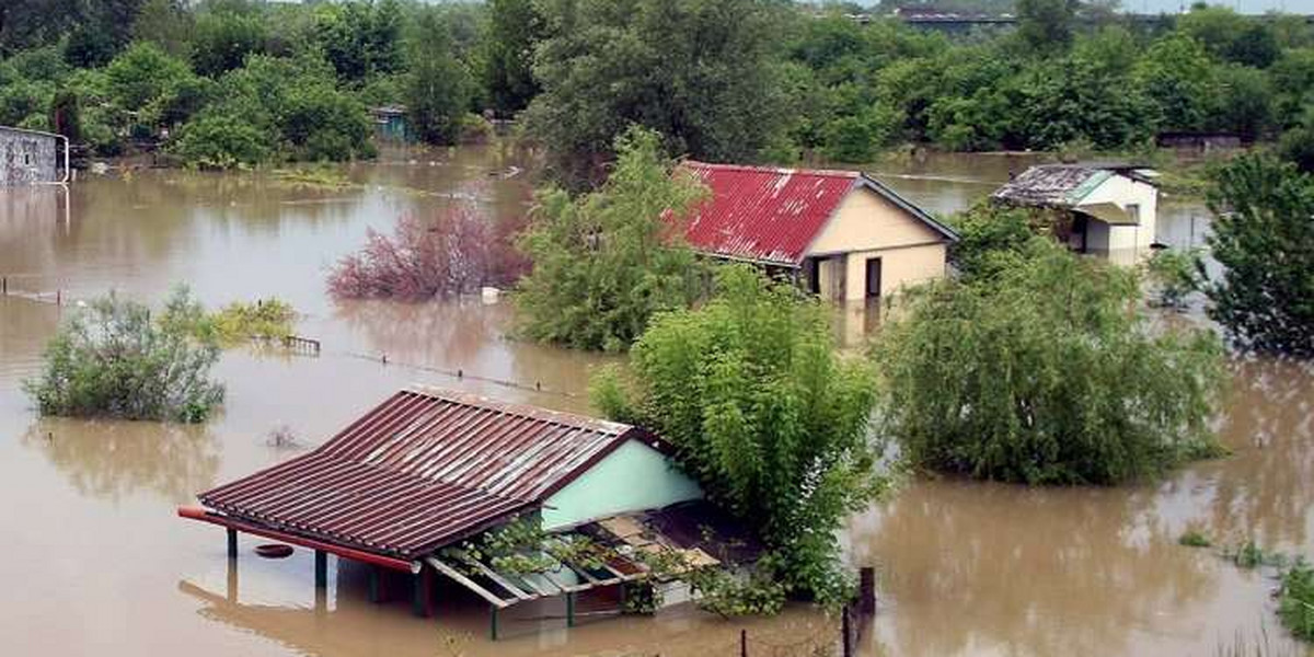
POLYGON ((627 440, 558 490, 543 509, 543 528, 557 530, 629 511, 699 499, 703 490, 666 456, 627 440))

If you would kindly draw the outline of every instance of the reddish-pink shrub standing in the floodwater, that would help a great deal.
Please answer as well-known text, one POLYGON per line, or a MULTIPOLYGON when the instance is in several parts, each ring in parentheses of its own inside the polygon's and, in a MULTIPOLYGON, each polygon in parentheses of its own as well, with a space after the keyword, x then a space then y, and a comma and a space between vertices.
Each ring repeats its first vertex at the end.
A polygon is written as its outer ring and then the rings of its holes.
POLYGON ((447 208, 432 221, 405 214, 392 235, 369 230, 365 247, 344 256, 328 275, 338 298, 419 301, 506 285, 519 259, 493 219, 472 204, 447 208))

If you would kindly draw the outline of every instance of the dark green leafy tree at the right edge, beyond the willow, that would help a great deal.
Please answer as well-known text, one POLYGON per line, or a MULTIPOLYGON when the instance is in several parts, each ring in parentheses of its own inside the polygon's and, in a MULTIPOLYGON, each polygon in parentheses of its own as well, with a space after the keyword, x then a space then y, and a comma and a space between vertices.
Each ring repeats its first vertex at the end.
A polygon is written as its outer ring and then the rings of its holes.
POLYGON ((1243 348, 1314 356, 1314 176, 1269 155, 1217 175, 1208 238, 1223 265, 1209 315, 1243 348))

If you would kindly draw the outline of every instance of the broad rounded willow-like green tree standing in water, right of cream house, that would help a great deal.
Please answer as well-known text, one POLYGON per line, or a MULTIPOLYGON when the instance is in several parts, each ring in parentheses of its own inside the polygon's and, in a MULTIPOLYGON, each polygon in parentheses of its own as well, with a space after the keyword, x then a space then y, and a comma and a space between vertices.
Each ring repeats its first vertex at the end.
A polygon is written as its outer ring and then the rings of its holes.
POLYGON ((1134 271, 1050 239, 988 281, 940 281, 882 328, 883 430, 911 463, 1028 484, 1117 484, 1215 453, 1205 331, 1135 311, 1134 271))

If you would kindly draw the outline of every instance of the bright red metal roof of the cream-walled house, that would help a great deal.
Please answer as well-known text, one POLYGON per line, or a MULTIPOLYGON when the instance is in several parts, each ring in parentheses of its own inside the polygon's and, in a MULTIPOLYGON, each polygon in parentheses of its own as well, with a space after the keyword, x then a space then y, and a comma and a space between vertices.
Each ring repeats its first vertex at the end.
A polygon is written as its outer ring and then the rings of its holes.
POLYGON ((721 258, 798 267, 844 198, 869 188, 947 239, 954 233, 888 187, 858 171, 708 164, 682 167, 711 189, 689 217, 695 250, 721 258))

